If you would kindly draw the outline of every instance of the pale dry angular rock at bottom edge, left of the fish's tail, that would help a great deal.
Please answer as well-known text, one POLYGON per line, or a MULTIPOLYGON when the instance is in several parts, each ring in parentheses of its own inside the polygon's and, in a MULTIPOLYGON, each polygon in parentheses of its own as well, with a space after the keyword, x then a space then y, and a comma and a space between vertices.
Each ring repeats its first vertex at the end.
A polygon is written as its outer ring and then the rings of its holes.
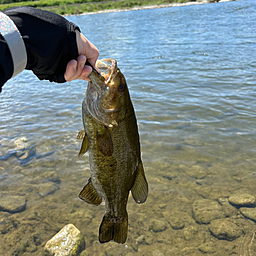
POLYGON ((49 256, 78 256, 84 249, 84 237, 73 224, 63 227, 44 247, 49 256))

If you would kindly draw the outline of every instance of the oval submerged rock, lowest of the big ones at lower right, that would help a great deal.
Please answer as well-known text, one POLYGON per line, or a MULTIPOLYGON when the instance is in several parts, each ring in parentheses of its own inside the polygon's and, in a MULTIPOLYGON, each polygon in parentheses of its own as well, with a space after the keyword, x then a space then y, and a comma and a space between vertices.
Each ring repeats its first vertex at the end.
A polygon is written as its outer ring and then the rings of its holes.
POLYGON ((228 241, 233 241, 243 234, 241 228, 227 219, 211 221, 209 230, 216 238, 228 241))

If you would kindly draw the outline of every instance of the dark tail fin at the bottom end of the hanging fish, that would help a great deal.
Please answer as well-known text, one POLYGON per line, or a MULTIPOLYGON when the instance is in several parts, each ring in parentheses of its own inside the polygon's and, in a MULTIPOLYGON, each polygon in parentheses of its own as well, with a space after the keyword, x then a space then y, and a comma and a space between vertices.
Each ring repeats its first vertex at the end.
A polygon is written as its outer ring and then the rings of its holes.
POLYGON ((107 243, 114 240, 117 243, 125 243, 128 231, 128 215, 123 218, 104 216, 99 230, 99 241, 107 243))

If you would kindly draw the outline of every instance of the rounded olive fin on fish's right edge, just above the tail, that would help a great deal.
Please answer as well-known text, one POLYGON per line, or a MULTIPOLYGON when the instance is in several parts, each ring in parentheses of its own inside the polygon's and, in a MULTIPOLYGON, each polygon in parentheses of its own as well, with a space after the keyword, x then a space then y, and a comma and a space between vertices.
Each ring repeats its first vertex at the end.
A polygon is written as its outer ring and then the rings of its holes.
POLYGON ((137 169, 137 176, 131 189, 132 197, 137 204, 144 203, 148 196, 148 183, 145 177, 143 164, 139 163, 137 169))

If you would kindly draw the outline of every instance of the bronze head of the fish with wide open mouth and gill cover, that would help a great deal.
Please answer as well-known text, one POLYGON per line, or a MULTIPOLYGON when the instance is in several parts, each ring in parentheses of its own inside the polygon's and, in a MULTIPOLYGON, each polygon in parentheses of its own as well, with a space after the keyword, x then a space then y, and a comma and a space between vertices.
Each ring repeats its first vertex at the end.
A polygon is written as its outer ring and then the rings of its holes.
POLYGON ((121 122, 131 104, 124 75, 115 59, 98 60, 96 71, 89 75, 86 105, 89 113, 100 123, 113 127, 121 122))

